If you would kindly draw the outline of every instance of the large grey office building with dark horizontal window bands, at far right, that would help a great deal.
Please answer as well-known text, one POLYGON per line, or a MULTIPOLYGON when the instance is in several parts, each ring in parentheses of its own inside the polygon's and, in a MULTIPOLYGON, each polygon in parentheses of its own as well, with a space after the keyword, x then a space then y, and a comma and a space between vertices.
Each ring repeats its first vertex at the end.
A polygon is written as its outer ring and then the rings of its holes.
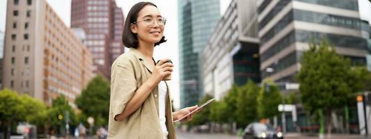
POLYGON ((354 65, 365 65, 369 53, 363 38, 357 0, 258 1, 262 78, 294 82, 299 58, 312 38, 323 38, 354 65), (267 68, 274 69, 268 72, 267 68))

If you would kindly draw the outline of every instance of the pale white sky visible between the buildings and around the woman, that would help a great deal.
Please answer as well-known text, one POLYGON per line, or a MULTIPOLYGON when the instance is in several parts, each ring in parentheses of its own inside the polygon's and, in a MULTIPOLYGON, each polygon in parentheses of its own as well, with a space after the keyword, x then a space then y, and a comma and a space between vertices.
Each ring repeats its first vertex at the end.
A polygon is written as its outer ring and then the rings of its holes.
MULTIPOLYGON (((116 0, 118 7, 123 8, 124 17, 127 16, 130 8, 140 0, 116 0)), ((147 0, 157 5, 159 12, 168 20, 166 22, 164 35, 167 42, 155 47, 155 60, 161 58, 171 58, 175 67, 171 80, 171 95, 174 99, 173 106, 180 106, 180 88, 179 88, 179 51, 178 51, 178 35, 177 35, 177 0, 147 0)), ((226 11, 231 0, 220 0, 221 14, 226 11)), ((65 22, 66 26, 70 26, 71 0, 47 0, 50 6, 56 11, 57 15, 65 22)), ((6 3, 7 0, 0 0, 0 31, 5 31, 6 22, 6 3)), ((368 19, 371 24, 371 4, 368 0, 359 0, 358 7, 361 10, 361 19, 368 19)))

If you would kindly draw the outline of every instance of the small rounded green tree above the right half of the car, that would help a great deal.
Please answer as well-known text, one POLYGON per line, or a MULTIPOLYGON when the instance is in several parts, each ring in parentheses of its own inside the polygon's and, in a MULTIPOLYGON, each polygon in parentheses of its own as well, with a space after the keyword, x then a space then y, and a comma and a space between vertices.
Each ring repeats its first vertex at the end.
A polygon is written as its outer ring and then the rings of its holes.
POLYGON ((262 83, 258 96, 258 113, 260 118, 271 118, 278 115, 278 105, 282 103, 278 86, 269 81, 262 83))

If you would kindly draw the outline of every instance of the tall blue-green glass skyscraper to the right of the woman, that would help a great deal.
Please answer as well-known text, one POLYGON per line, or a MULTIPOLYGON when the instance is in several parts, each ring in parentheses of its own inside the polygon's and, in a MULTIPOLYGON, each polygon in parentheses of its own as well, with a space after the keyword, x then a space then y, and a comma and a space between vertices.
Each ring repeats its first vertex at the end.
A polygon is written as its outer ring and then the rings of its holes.
POLYGON ((219 0, 178 0, 180 107, 197 104, 202 96, 199 54, 220 17, 219 0))

